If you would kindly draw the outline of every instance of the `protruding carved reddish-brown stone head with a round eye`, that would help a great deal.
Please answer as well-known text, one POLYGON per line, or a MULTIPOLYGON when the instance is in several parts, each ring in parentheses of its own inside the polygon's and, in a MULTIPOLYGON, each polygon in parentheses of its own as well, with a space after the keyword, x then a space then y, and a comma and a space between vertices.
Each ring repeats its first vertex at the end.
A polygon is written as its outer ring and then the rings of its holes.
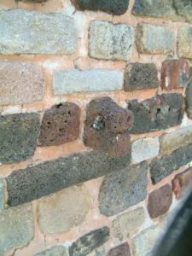
POLYGON ((84 144, 113 156, 128 154, 131 137, 126 130, 131 125, 129 110, 120 108, 108 96, 96 98, 86 108, 84 144))

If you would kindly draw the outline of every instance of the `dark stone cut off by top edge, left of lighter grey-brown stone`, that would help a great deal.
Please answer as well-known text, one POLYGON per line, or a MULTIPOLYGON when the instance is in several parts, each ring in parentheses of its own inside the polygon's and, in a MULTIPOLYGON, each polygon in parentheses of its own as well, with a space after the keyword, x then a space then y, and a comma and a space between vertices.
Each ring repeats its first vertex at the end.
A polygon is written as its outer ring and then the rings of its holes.
POLYGON ((78 9, 103 11, 112 15, 123 15, 128 9, 129 0, 72 0, 78 9))

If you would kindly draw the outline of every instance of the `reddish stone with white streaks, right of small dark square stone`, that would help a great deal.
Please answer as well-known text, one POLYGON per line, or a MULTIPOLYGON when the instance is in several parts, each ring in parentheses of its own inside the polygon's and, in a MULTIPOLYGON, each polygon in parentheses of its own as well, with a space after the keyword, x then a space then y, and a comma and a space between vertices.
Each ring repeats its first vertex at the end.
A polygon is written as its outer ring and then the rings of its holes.
POLYGON ((163 90, 183 88, 188 80, 188 61, 184 59, 163 61, 161 67, 161 88, 163 90))

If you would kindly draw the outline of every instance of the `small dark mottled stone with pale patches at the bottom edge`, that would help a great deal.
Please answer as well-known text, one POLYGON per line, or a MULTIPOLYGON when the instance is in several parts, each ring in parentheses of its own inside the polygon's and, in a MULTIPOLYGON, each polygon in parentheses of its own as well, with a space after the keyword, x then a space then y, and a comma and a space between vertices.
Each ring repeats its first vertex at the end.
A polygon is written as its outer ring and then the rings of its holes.
POLYGON ((69 256, 85 256, 96 249, 96 247, 101 247, 108 239, 108 227, 91 231, 73 242, 72 246, 69 247, 69 256))

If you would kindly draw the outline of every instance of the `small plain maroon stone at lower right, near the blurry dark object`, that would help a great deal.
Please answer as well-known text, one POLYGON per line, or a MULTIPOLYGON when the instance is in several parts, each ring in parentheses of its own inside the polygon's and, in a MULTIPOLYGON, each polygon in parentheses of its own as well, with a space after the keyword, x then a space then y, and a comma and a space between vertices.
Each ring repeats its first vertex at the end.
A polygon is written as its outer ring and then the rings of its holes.
POLYGON ((148 213, 150 218, 165 214, 172 205, 172 187, 166 184, 148 195, 148 213))

